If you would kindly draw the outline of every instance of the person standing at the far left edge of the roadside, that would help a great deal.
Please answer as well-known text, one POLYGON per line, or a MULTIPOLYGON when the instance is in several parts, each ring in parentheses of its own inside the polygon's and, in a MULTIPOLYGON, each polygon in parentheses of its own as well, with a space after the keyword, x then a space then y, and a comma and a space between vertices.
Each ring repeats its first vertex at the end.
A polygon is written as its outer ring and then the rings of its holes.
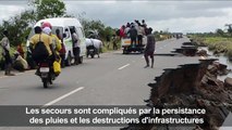
POLYGON ((0 41, 0 46, 2 47, 2 55, 4 57, 4 75, 5 76, 14 76, 11 74, 12 60, 10 55, 10 41, 8 39, 8 30, 3 31, 3 38, 0 41))

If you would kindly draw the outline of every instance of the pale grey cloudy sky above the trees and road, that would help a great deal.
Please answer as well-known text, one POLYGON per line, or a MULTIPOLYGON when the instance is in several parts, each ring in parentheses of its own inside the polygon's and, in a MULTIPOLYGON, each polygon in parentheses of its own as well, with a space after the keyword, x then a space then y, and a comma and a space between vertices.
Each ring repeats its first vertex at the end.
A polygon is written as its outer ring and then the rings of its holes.
MULTIPOLYGON (((155 30, 205 32, 232 24, 232 0, 63 0, 66 11, 120 27, 145 20, 155 30)), ((26 10, 28 0, 0 0, 0 23, 26 10)))

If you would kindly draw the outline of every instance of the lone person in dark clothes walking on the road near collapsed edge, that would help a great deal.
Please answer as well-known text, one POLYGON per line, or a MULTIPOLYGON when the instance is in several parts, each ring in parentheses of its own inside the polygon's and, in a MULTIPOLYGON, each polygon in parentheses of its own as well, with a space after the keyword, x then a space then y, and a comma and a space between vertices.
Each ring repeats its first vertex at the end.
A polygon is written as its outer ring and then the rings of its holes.
POLYGON ((152 28, 148 29, 148 35, 147 35, 147 44, 144 51, 144 57, 146 61, 146 66, 145 68, 149 67, 149 58, 148 56, 150 56, 151 58, 151 68, 154 67, 154 52, 155 52, 155 48, 156 48, 156 40, 155 40, 155 36, 151 34, 152 32, 152 28))

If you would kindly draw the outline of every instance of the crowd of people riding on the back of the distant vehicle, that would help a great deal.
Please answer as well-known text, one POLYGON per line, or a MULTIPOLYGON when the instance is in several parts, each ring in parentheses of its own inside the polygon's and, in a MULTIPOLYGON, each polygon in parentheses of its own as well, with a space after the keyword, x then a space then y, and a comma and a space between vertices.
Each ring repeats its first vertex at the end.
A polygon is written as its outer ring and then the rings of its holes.
POLYGON ((145 20, 142 20, 142 23, 135 20, 134 23, 122 25, 119 36, 120 38, 131 38, 131 46, 142 46, 143 37, 148 35, 148 29, 145 20))

